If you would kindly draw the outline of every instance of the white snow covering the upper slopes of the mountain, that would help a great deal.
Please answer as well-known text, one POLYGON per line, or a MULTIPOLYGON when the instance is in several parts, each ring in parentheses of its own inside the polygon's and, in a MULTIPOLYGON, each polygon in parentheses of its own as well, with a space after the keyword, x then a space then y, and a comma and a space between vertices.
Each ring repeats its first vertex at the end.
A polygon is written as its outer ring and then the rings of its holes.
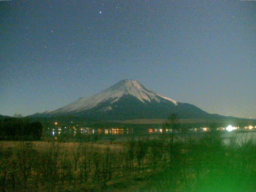
MULTIPOLYGON (((174 105, 177 105, 177 102, 164 97, 160 94, 157 94, 151 90, 148 90, 142 84, 140 84, 136 80, 122 80, 113 86, 103 90, 102 92, 91 96, 89 98, 79 98, 75 102, 72 102, 62 108, 54 110, 52 112, 46 112, 48 114, 54 113, 64 113, 64 112, 79 112, 82 110, 88 110, 94 108, 101 102, 105 102, 108 100, 112 100, 111 103, 117 102, 124 95, 132 95, 136 97, 141 102, 145 103, 146 101, 152 102, 155 100, 156 102, 161 101, 170 101, 174 105)), ((102 110, 111 110, 111 107, 104 108, 102 110)))

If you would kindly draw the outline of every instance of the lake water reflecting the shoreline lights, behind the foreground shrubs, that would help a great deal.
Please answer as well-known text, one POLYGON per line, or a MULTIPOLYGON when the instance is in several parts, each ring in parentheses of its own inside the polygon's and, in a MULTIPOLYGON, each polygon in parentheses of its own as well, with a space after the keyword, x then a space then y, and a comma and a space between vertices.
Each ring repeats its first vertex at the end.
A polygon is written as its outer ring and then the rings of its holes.
MULTIPOLYGON (((226 130, 219 130, 221 132, 224 144, 228 145, 230 142, 236 140, 236 144, 242 144, 248 140, 256 140, 256 130, 234 130, 228 132, 226 130)), ((192 138, 200 138, 208 131, 191 131, 187 133, 188 137, 192 138)), ((76 131, 70 131, 67 129, 53 129, 52 131, 48 131, 46 133, 50 137, 54 137, 56 139, 63 137, 68 134, 67 138, 79 138, 80 140, 85 139, 86 137, 97 137, 101 140, 116 140, 122 141, 126 140, 128 137, 132 136, 135 138, 158 138, 158 136, 163 134, 162 129, 119 129, 112 128, 108 130, 104 129, 80 129, 76 131)), ((165 134, 171 134, 170 130, 166 130, 165 134)), ((176 137, 182 139, 182 134, 180 132, 175 132, 176 137)))

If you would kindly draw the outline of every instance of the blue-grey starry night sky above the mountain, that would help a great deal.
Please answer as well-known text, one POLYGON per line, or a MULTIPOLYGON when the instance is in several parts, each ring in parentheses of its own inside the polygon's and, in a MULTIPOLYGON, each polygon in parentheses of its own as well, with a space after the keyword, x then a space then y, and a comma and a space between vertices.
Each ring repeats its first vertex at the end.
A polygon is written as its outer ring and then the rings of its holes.
POLYGON ((256 118, 256 1, 0 1, 0 114, 54 110, 123 79, 256 118))

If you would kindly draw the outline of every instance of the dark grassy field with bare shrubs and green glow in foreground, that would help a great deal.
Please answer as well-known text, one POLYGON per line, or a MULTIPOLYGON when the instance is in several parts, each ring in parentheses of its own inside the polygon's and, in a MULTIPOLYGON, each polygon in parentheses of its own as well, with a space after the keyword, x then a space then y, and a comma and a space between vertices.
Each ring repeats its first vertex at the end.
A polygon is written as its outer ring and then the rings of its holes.
POLYGON ((2 192, 256 191, 256 144, 161 134, 126 142, 0 142, 2 192))

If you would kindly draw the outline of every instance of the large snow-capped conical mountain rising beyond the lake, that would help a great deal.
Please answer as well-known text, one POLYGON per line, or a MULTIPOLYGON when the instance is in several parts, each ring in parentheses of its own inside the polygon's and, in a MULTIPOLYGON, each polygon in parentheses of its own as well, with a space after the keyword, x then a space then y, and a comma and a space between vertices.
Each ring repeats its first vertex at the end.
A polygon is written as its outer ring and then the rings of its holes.
POLYGON ((177 102, 149 90, 136 80, 122 80, 89 98, 79 98, 54 111, 32 116, 78 116, 96 120, 129 120, 168 118, 177 113, 180 118, 224 117, 209 114, 200 108, 177 102))

